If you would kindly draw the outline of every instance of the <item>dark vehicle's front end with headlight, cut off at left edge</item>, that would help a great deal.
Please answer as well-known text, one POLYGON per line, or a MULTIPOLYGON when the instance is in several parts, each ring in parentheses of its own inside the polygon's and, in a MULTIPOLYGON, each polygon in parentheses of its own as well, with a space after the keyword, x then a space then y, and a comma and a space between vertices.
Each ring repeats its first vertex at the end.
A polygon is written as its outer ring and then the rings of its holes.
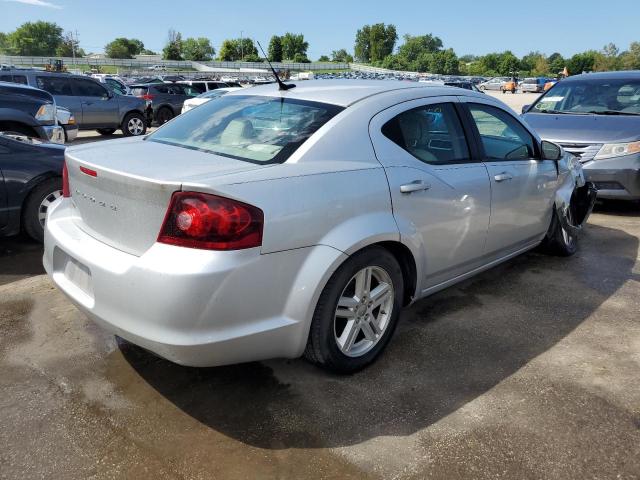
POLYGON ((0 132, 64 143, 53 96, 16 83, 0 82, 0 132))

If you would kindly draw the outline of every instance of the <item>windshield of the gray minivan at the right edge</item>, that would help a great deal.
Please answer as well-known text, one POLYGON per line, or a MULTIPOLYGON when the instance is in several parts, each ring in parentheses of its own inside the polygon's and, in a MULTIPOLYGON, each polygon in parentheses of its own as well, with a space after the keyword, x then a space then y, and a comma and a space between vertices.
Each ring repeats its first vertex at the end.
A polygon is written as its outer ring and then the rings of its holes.
POLYGON ((530 110, 536 113, 640 114, 640 80, 556 83, 530 110))

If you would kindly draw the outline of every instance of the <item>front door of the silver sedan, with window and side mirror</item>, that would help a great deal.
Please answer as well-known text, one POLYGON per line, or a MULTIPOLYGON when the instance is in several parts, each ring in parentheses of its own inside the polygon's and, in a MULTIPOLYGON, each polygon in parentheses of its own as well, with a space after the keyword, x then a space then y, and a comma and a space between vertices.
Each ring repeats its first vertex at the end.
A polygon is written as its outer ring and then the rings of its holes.
POLYGON ((504 256, 541 240, 551 221, 557 168, 541 160, 538 141, 506 110, 465 103, 491 181, 487 254, 504 256))

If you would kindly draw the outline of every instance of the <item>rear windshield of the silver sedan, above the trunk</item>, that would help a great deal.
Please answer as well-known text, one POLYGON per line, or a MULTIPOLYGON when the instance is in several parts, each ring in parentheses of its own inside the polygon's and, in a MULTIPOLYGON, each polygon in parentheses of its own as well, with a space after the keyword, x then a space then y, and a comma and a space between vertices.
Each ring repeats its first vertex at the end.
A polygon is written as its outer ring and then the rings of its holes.
POLYGON ((180 115, 147 139, 253 163, 282 163, 342 110, 303 100, 224 95, 180 115))

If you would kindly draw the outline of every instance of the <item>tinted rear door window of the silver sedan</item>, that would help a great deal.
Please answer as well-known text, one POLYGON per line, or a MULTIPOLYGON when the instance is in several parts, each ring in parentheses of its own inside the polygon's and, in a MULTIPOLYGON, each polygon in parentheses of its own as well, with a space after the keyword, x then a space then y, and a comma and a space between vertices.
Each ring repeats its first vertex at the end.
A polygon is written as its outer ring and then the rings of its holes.
POLYGON ((385 137, 426 163, 445 164, 469 159, 458 114, 451 103, 414 108, 389 120, 385 137))

